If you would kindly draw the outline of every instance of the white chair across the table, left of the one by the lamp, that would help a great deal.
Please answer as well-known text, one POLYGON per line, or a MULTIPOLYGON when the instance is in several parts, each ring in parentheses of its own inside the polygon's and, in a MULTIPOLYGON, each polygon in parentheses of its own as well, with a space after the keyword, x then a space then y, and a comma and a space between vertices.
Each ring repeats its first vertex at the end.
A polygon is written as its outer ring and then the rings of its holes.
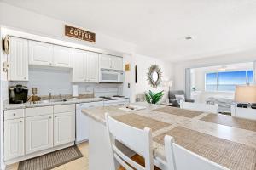
POLYGON ((218 113, 218 104, 209 105, 209 104, 202 104, 202 103, 185 102, 181 100, 180 108, 188 109, 192 111, 203 111, 203 112, 216 113, 216 114, 218 113))

